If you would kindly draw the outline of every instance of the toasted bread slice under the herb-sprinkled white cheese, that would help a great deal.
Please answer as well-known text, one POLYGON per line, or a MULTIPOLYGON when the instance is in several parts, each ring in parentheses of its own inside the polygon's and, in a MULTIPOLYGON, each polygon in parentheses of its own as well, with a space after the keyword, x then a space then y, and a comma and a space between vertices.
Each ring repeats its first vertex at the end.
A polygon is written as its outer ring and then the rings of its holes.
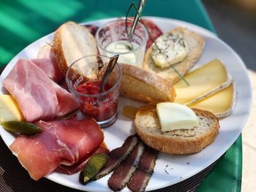
MULTIPOLYGON (((192 31, 188 31, 187 28, 177 27, 173 30, 167 32, 168 34, 182 34, 188 46, 187 57, 178 64, 173 64, 173 67, 182 75, 186 74, 189 69, 192 68, 200 58, 201 53, 203 52, 203 47, 205 40, 203 37, 200 37, 198 34, 195 34, 192 31)), ((167 68, 161 68, 154 64, 154 60, 151 57, 151 47, 146 51, 143 69, 146 69, 148 72, 158 74, 159 76, 170 80, 171 82, 176 82, 179 79, 178 74, 173 70, 171 66, 167 68)))

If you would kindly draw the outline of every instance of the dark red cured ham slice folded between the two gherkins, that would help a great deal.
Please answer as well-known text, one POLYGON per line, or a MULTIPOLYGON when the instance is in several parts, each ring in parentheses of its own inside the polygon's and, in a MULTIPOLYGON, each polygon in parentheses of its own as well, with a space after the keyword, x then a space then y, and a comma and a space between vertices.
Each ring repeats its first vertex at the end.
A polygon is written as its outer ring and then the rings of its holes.
POLYGON ((35 137, 18 136, 10 150, 39 180, 59 164, 73 165, 95 150, 103 141, 102 130, 95 120, 62 120, 36 123, 42 132, 35 137))

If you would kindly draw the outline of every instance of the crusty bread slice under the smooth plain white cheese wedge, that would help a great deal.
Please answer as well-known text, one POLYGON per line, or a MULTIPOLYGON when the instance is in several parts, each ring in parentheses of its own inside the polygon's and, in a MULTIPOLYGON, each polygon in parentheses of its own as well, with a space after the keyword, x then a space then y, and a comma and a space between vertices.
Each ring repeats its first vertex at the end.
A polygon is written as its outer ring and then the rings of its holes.
POLYGON ((162 132, 155 104, 140 108, 135 116, 135 131, 146 145, 165 153, 197 153, 214 141, 219 133, 219 120, 211 112, 192 109, 199 126, 189 130, 162 132))

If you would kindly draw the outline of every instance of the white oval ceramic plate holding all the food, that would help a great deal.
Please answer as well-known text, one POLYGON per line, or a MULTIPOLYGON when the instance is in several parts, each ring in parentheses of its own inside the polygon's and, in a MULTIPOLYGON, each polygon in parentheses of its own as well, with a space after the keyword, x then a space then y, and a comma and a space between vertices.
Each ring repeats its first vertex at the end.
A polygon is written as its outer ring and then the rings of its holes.
MULTIPOLYGON (((157 164, 154 168, 154 174, 146 188, 147 191, 151 191, 186 180, 192 175, 205 169, 225 153, 225 151, 227 151, 233 142, 236 141, 239 134, 241 134, 241 130, 244 128, 249 116, 252 104, 252 85, 249 81, 246 67, 243 61, 241 61, 241 58, 239 58, 239 56, 228 45, 226 45, 225 42, 222 42, 222 40, 218 39, 215 34, 211 33, 211 31, 180 20, 153 17, 148 18, 153 20, 163 32, 169 31, 176 26, 184 26, 205 37, 206 46, 203 50, 203 55, 197 62, 197 66, 206 64, 206 62, 211 61, 214 58, 219 58, 227 67, 228 72, 233 76, 237 86, 235 110, 230 117, 220 120, 219 134, 211 145, 206 147, 206 149, 202 150, 200 153, 193 155, 167 155, 165 153, 159 153, 159 158, 157 159, 157 164)), ((100 26, 107 21, 108 20, 97 20, 86 24, 100 26)), ((18 61, 18 58, 35 58, 39 48, 42 45, 45 45, 45 42, 51 42, 52 39, 53 34, 42 37, 26 47, 16 55, 12 61, 10 61, 6 69, 4 69, 4 72, 1 74, 0 93, 7 93, 3 88, 2 80, 4 80, 10 72, 16 61, 18 61)), ((110 150, 121 146, 124 139, 134 133, 132 120, 121 115, 121 110, 124 105, 134 105, 135 107, 139 107, 141 104, 129 99, 120 99, 118 120, 113 124, 113 126, 104 130, 105 142, 110 150)), ((4 128, 0 128, 0 134, 7 146, 10 146, 15 139, 9 132, 5 131, 4 128)), ((81 185, 78 182, 78 174, 69 176, 53 172, 46 177, 61 185, 66 185, 70 188, 77 188, 83 191, 110 191, 107 184, 110 174, 103 177, 101 180, 91 182, 88 185, 81 185)), ((128 188, 124 188, 123 191, 129 190, 128 188)))

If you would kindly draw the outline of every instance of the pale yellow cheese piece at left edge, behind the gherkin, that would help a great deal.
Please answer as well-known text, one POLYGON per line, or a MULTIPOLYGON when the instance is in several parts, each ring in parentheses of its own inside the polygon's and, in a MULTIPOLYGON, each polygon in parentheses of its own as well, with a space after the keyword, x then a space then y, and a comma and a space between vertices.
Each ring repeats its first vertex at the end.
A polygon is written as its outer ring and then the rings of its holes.
POLYGON ((9 120, 24 120, 22 112, 11 95, 0 95, 0 123, 9 120))

